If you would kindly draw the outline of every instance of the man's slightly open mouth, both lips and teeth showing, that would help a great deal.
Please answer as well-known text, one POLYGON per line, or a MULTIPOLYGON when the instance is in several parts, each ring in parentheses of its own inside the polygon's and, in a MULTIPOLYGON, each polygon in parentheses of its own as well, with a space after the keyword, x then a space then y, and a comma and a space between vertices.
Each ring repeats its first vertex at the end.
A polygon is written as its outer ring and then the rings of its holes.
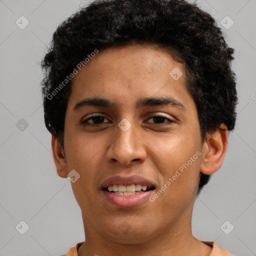
POLYGON ((100 189, 111 205, 131 207, 148 200, 156 185, 137 175, 114 176, 106 179, 100 189))

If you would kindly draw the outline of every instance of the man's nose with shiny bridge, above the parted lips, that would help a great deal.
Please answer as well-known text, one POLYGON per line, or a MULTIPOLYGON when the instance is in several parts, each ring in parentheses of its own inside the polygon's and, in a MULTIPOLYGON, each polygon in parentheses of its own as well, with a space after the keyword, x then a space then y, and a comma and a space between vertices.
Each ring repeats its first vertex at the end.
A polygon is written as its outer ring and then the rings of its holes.
POLYGON ((146 146, 140 134, 134 124, 126 131, 116 125, 116 132, 110 139, 106 153, 108 161, 117 161, 123 166, 131 162, 142 163, 146 158, 146 146))

